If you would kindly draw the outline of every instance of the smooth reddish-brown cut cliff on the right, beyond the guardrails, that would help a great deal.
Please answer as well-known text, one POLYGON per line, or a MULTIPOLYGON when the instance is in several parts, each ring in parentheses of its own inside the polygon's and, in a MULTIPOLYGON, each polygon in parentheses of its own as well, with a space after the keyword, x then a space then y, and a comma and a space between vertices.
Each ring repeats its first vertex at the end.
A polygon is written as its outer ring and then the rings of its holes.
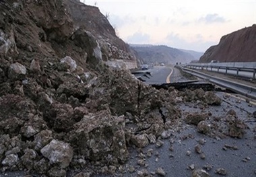
POLYGON ((256 61, 256 25, 243 28, 223 36, 216 46, 206 50, 199 62, 212 60, 220 62, 255 62, 256 61))

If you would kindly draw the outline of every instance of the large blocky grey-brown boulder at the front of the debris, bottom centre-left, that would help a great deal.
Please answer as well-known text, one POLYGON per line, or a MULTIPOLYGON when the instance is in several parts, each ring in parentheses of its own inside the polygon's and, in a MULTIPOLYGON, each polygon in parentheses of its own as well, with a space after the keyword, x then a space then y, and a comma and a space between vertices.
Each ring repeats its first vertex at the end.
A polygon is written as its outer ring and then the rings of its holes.
POLYGON ((71 144, 77 153, 92 161, 123 163, 128 158, 124 116, 112 116, 108 110, 88 114, 74 125, 71 144))

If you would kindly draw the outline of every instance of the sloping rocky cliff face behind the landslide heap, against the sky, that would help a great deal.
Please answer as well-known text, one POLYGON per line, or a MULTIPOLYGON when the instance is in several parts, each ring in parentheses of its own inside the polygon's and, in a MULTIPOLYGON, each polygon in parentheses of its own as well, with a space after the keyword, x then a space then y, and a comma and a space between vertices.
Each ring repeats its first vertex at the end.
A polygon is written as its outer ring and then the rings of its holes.
POLYGON ((85 30, 92 33, 100 45, 104 61, 123 60, 127 63, 134 63, 133 67, 136 67, 136 57, 133 51, 128 44, 117 37, 115 29, 100 13, 98 7, 85 5, 75 0, 69 0, 67 3, 75 28, 83 26, 85 30))

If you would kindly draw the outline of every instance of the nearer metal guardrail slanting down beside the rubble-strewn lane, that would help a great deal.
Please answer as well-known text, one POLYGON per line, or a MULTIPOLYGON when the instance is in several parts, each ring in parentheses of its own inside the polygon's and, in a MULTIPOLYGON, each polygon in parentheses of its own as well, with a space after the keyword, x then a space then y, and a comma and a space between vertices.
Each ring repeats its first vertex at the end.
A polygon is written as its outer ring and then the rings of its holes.
POLYGON ((229 90, 232 90, 235 93, 241 94, 243 96, 247 96, 249 98, 253 98, 256 100, 256 87, 251 87, 249 85, 244 85, 241 83, 235 83, 233 81, 228 81, 226 79, 220 79, 218 77, 214 77, 212 75, 207 75, 205 73, 200 73, 199 71, 195 71, 193 69, 187 69, 184 67, 181 67, 181 69, 189 73, 191 75, 195 75, 196 77, 205 79, 207 81, 210 81, 212 83, 215 83, 216 85, 220 85, 221 87, 226 87, 229 90))

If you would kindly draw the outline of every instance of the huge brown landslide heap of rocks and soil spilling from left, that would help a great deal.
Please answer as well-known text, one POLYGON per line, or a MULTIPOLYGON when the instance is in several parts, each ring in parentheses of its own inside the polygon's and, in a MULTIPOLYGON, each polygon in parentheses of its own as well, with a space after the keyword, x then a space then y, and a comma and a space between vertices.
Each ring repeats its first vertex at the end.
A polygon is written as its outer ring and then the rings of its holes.
POLYGON ((119 165, 181 116, 168 92, 102 63, 66 1, 0 2, 0 169, 119 165))

